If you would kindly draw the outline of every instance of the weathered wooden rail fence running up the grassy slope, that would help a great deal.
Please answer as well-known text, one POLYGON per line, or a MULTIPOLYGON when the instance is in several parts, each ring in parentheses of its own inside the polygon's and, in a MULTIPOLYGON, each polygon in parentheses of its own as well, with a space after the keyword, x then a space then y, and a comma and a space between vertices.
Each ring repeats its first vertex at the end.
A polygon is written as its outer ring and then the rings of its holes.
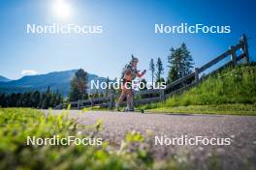
MULTIPOLYGON (((199 82, 204 78, 204 76, 200 77, 200 73, 208 70, 215 64, 223 61, 230 57, 229 61, 218 67, 214 71, 208 73, 211 74, 215 71, 222 70, 230 65, 237 65, 238 62, 243 59, 244 63, 249 63, 249 53, 248 53, 248 43, 247 37, 243 34, 240 38, 240 42, 235 46, 230 46, 230 48, 225 51, 223 54, 219 55, 218 57, 214 58, 213 60, 209 61, 206 65, 202 66, 201 68, 195 68, 195 71, 192 73, 177 79, 176 81, 168 84, 166 89, 151 89, 151 90, 144 90, 144 91, 136 91, 135 92, 135 105, 150 103, 150 102, 157 102, 163 101, 168 99, 175 94, 182 93, 185 90, 190 89, 193 86, 199 84, 199 82), (238 51, 240 51, 240 55, 238 55, 238 51), (142 98, 143 97, 143 98, 142 98)), ((107 98, 97 98, 97 99, 86 99, 86 100, 79 100, 70 102, 71 108, 81 109, 84 107, 91 107, 94 105, 100 105, 103 107, 113 108, 115 105, 115 100, 118 98, 117 95, 110 95, 107 98)), ((124 104, 121 103, 121 104, 124 104)), ((55 107, 55 109, 66 108, 67 104, 59 104, 55 107)))

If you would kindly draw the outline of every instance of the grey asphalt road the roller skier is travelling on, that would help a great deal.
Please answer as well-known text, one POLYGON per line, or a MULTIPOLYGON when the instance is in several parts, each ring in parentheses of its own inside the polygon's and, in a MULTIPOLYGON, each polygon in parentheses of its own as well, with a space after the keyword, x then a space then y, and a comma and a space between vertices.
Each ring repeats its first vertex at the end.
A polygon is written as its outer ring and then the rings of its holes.
MULTIPOLYGON (((53 112, 58 114, 60 111, 53 112)), ((131 130, 138 130, 144 135, 151 131, 150 152, 156 158, 180 155, 200 169, 207 169, 208 158, 212 160, 215 156, 219 166, 224 169, 256 169, 256 117, 253 116, 79 112, 71 110, 70 117, 76 119, 81 126, 93 125, 101 119, 103 129, 99 135, 116 146, 131 130), (155 136, 176 138, 182 135, 188 138, 230 138, 230 145, 154 145, 155 136)))

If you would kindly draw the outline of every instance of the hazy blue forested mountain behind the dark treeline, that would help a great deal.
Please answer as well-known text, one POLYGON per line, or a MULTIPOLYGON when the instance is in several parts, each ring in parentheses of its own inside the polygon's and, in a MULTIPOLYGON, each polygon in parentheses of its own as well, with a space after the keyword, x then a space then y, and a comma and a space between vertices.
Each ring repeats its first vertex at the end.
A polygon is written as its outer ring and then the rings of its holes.
MULTIPOLYGON (((70 81, 76 71, 78 70, 54 71, 47 74, 27 75, 17 80, 0 82, 0 93, 24 93, 33 90, 44 92, 49 86, 52 91, 59 92, 67 97, 70 91, 70 81)), ((106 78, 88 73, 88 82, 91 80, 105 82, 106 78)))

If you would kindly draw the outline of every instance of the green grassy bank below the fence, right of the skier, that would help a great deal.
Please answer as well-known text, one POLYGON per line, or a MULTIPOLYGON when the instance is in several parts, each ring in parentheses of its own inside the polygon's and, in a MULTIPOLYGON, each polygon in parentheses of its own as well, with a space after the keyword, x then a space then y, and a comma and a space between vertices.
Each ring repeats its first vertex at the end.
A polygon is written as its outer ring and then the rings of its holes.
POLYGON ((149 112, 256 115, 256 66, 227 68, 181 95, 142 108, 149 112))

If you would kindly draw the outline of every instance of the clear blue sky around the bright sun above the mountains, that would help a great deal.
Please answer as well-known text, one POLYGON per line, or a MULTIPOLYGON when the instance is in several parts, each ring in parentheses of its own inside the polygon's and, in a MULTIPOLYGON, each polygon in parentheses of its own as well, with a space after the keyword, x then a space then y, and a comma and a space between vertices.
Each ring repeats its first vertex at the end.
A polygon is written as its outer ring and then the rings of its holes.
MULTIPOLYGON (((190 0, 66 0, 68 17, 52 8, 54 0, 0 0, 0 75, 11 79, 25 71, 47 73, 82 68, 100 76, 119 77, 131 54, 148 70, 150 58, 160 57, 167 76, 170 48, 185 42, 200 67, 236 44, 245 33, 255 61, 255 5, 243 1, 190 0), (155 34, 154 24, 230 25, 230 34, 155 34), (103 26, 100 35, 33 35, 26 24, 76 23, 103 26)), ((147 72, 146 78, 150 74, 147 72)))

